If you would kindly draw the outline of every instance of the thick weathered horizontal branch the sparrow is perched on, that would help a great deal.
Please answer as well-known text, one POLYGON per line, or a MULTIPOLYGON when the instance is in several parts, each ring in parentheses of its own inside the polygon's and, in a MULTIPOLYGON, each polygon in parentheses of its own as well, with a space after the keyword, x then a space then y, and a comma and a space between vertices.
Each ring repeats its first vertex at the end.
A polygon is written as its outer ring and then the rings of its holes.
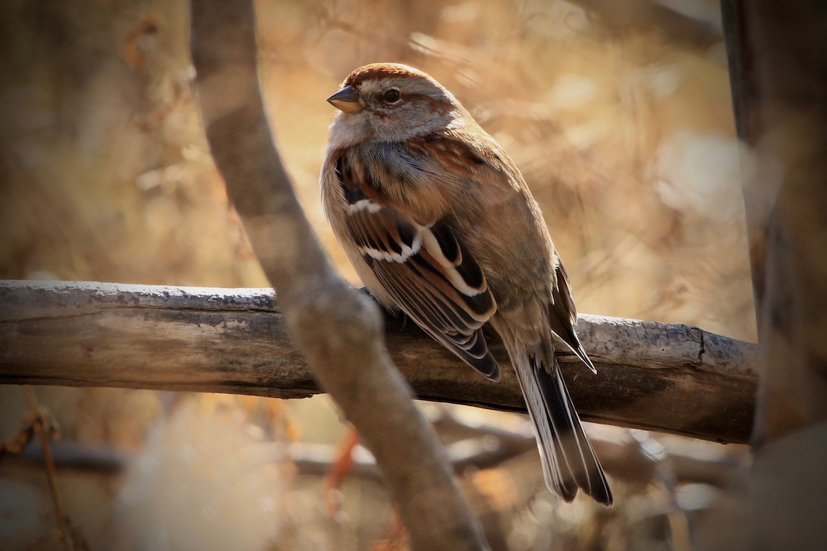
MULTIPOLYGON (((418 397, 524 411, 510 369, 490 382, 410 321, 386 342, 418 397)), ((586 420, 747 443, 758 345, 690 325, 581 316, 593 375, 561 348, 586 420)), ((495 357, 508 356, 490 335, 495 357)), ((0 282, 0 382, 230 392, 320 392, 270 289, 0 282)))

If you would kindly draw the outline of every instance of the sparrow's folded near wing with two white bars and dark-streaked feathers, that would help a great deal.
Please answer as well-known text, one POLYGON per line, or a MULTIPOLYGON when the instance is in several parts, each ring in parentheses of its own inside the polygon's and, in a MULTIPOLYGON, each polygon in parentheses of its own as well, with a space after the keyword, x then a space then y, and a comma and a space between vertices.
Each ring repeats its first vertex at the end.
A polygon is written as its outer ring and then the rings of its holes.
POLYGON ((347 235, 385 294, 440 344, 493 380, 500 366, 482 326, 496 311, 485 274, 447 221, 421 224, 366 190, 347 155, 337 173, 347 200, 347 235))

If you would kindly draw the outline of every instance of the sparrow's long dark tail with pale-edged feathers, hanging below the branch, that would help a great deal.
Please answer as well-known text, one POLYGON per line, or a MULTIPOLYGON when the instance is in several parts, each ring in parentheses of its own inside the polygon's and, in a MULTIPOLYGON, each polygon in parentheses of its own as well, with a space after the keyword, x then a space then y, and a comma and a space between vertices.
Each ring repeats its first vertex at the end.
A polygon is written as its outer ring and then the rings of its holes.
POLYGON ((603 468, 583 431, 550 345, 515 350, 512 363, 537 435, 549 491, 571 501, 580 488, 595 501, 612 504, 603 468))

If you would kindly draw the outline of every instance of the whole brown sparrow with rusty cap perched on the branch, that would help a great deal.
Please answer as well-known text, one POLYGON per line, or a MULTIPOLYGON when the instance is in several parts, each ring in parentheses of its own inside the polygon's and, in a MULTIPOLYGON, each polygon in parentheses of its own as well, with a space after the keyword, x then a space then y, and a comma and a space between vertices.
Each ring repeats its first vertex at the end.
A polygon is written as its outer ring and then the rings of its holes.
MULTIPOLYGON (((436 80, 401 64, 353 71, 321 174, 333 232, 385 306, 496 381, 482 327, 504 341, 550 491, 612 494, 569 397, 552 334, 595 371, 574 330, 566 270, 523 175, 436 80)), ((596 373, 596 372, 595 372, 596 373)))

